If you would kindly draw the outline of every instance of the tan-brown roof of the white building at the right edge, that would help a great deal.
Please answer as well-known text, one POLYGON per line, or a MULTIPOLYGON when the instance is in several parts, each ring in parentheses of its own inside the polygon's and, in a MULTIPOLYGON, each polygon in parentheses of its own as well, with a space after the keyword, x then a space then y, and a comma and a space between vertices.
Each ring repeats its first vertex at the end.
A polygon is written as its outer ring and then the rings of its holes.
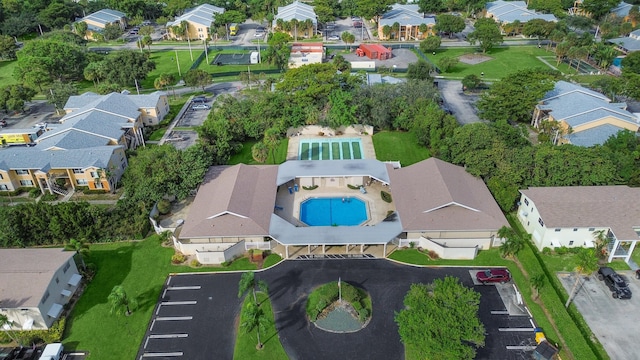
POLYGON ((640 240, 640 189, 619 186, 530 187, 547 228, 610 227, 618 240, 640 240))

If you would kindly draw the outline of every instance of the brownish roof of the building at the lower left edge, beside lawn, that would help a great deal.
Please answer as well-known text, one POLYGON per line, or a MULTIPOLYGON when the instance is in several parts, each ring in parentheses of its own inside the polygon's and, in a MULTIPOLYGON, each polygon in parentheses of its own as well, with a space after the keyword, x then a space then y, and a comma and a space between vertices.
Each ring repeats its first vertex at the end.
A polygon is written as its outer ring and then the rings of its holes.
POLYGON ((61 249, 0 249, 2 307, 38 306, 55 272, 73 254, 61 249))

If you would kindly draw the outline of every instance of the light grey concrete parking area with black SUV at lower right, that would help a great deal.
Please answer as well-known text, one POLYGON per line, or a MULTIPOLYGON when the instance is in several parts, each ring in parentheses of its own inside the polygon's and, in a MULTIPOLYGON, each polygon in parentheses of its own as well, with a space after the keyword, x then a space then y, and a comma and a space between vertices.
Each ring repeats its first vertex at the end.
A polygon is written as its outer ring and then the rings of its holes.
MULTIPOLYGON (((611 359, 637 359, 640 353, 638 342, 638 309, 640 309, 640 280, 628 271, 618 271, 629 283, 633 296, 628 300, 614 299, 611 291, 595 275, 582 281, 573 303, 582 314, 591 331, 604 346, 611 359)), ((571 293, 576 278, 574 273, 559 273, 567 293, 571 293)))

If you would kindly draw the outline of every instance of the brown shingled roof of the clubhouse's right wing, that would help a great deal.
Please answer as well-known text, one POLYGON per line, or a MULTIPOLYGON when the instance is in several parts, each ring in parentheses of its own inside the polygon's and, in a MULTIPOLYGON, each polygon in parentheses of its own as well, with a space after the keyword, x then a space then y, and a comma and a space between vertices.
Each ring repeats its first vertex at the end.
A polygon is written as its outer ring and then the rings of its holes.
POLYGON ((390 173, 393 199, 405 231, 490 230, 508 226, 481 179, 430 158, 390 173))

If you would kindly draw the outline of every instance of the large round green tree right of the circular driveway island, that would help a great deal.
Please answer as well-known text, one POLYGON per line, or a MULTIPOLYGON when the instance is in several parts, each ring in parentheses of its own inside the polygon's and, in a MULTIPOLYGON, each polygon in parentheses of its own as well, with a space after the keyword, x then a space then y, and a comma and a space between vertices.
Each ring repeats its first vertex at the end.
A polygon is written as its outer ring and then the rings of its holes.
POLYGON ((412 284, 405 308, 396 313, 400 338, 420 359, 473 359, 484 346, 484 326, 478 317, 480 294, 455 277, 432 284, 412 284))

